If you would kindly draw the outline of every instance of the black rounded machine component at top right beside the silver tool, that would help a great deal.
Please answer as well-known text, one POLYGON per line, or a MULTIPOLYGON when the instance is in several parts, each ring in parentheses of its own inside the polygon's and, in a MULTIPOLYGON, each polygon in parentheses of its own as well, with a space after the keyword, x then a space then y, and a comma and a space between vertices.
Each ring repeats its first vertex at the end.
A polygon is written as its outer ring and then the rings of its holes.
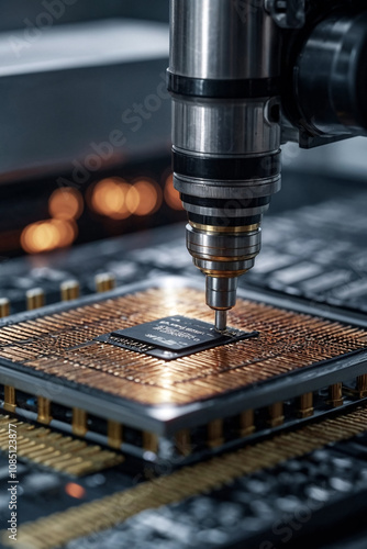
POLYGON ((367 13, 362 2, 310 2, 288 42, 283 110, 309 148, 366 135, 367 13))

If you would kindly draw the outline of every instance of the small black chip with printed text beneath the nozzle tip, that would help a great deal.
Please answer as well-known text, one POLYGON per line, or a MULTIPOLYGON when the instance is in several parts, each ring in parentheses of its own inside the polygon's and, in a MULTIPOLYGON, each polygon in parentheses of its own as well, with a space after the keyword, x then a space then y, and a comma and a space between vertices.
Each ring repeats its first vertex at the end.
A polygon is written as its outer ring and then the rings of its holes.
POLYGON ((258 332, 234 328, 221 333, 212 324, 177 315, 104 334, 96 340, 164 360, 174 360, 257 335, 258 332))

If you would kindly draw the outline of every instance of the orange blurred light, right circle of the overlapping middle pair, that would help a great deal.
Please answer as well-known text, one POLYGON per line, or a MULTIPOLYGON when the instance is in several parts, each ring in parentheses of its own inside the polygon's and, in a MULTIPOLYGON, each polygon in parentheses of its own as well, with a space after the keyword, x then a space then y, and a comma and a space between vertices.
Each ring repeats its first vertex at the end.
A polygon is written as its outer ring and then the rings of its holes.
POLYGON ((134 215, 149 215, 155 213, 162 204, 160 188, 148 179, 136 181, 126 197, 126 204, 134 215))

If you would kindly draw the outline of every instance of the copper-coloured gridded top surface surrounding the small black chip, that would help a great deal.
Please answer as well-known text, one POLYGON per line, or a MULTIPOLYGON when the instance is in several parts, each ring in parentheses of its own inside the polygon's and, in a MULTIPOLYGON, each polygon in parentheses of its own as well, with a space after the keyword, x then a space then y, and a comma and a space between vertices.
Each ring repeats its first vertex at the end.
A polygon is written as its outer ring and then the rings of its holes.
POLYGON ((0 329, 0 357, 143 404, 187 404, 364 349, 366 330, 238 300, 230 326, 257 338, 166 362, 91 341, 180 314, 212 322, 201 292, 152 289, 0 329), (79 347, 81 346, 81 347, 79 347))

